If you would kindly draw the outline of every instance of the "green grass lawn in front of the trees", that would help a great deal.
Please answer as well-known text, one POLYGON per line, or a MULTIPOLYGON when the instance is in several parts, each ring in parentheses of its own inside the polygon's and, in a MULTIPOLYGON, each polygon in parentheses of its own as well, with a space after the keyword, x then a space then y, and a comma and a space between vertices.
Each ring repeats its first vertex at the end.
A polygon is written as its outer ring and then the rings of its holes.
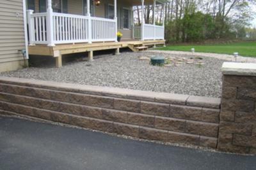
POLYGON ((256 41, 216 45, 170 45, 163 48, 158 48, 157 50, 190 52, 191 48, 195 48, 195 52, 227 54, 238 52, 239 55, 244 57, 256 57, 256 41))

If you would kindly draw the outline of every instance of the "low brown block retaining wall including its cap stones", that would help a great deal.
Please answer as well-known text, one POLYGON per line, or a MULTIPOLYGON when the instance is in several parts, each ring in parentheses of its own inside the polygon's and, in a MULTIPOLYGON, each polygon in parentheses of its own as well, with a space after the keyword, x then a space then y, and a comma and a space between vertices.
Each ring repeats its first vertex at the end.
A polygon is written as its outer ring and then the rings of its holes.
POLYGON ((216 148, 220 99, 1 77, 0 114, 216 148))

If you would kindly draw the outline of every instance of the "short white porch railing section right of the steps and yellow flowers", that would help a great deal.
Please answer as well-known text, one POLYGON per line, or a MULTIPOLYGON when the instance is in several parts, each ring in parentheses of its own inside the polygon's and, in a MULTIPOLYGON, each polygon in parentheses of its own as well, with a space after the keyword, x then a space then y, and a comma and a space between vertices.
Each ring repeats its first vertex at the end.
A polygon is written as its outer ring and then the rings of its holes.
MULTIPOLYGON (((133 27, 133 37, 135 39, 141 39, 141 27, 133 27)), ((164 26, 144 24, 144 36, 143 39, 164 39, 164 26)))

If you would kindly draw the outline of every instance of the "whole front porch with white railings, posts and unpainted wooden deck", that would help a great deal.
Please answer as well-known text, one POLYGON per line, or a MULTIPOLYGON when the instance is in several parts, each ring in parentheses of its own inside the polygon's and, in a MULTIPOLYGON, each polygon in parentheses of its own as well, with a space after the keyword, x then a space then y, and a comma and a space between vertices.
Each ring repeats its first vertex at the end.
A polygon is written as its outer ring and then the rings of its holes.
POLYGON ((126 9, 132 10, 132 6, 136 5, 140 5, 141 11, 143 11, 145 4, 152 4, 155 9, 156 4, 164 5, 166 0, 113 0, 113 5, 111 2, 106 3, 107 6, 105 4, 105 18, 102 15, 99 17, 99 10, 98 12, 93 10, 90 3, 93 2, 95 5, 95 1, 92 0, 81 0, 86 1, 85 15, 60 13, 61 10, 56 12, 52 8, 52 1, 55 0, 47 1, 45 12, 38 10, 34 13, 33 10, 28 10, 28 53, 29 55, 55 57, 57 67, 62 66, 61 57, 65 54, 88 52, 88 60, 93 60, 93 51, 115 49, 118 54, 120 48, 128 47, 132 51, 138 51, 138 49, 147 49, 147 46, 164 45, 165 43, 164 24, 156 25, 155 17, 152 18, 152 24, 145 24, 144 13, 141 12, 141 24, 134 25, 133 13, 128 10, 127 15, 131 15, 131 18, 122 18, 120 6, 126 6, 122 7, 123 13, 126 9), (127 24, 124 24, 125 22, 127 24), (124 26, 120 27, 120 25, 124 26), (124 32, 124 34, 131 32, 131 36, 118 42, 116 38, 118 31, 124 32))

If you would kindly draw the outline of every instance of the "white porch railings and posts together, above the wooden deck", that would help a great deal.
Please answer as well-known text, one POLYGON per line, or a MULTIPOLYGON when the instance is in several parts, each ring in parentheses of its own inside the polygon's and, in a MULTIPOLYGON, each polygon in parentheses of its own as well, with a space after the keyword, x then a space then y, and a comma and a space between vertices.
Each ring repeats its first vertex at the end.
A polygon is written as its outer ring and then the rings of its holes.
MULTIPOLYGON (((133 1, 117 1, 114 0, 113 9, 111 7, 111 2, 108 2, 109 7, 113 10, 104 11, 105 18, 92 17, 91 3, 95 3, 92 0, 86 1, 86 14, 84 15, 74 15, 70 13, 59 13, 52 9, 52 1, 47 1, 47 10, 45 12, 34 13, 33 10, 28 10, 28 30, 29 30, 29 45, 48 45, 54 46, 58 44, 67 43, 92 43, 92 42, 107 42, 116 41, 116 32, 124 31, 128 32, 131 30, 131 37, 128 39, 140 39, 140 40, 156 40, 164 39, 164 24, 156 25, 155 18, 153 17, 153 24, 145 24, 144 13, 141 12, 141 24, 134 25, 133 13, 131 13, 132 6, 140 5, 141 11, 144 10, 145 4, 152 4, 154 9, 156 4, 164 3, 165 0, 133 0, 133 1), (127 8, 127 19, 122 16, 118 16, 118 4, 124 6, 129 6, 127 8), (129 11, 130 10, 130 11, 129 11), (113 12, 113 15, 111 14, 113 12), (131 17, 131 18, 129 18, 131 17), (120 18, 122 18, 120 20, 120 18), (120 24, 127 25, 127 27, 122 27, 120 30, 120 24), (124 24, 127 22, 127 24, 124 24)), ((83 1, 83 0, 81 0, 83 1)), ((98 1, 97 1, 98 2, 98 1)), ((99 1, 100 2, 100 1, 99 1)), ((98 2, 98 3, 99 3, 98 2)), ((93 4, 94 6, 95 4, 93 4)), ((106 4, 105 4, 106 6, 106 4)), ((60 10, 60 12, 62 12, 60 10)), ((68 12, 68 11, 67 11, 68 12)), ((123 11, 124 13, 125 11, 123 11)), ((99 12, 97 12, 99 13, 99 12)), ((97 16, 94 12, 93 16, 97 16)), ((120 14, 119 14, 120 15, 120 14)), ((164 15, 164 14, 163 14, 164 15)), ((126 16, 124 14, 124 16, 126 16)), ((154 16, 154 15, 153 15, 154 16)), ((163 17, 164 18, 164 17, 163 17)), ((164 22, 162 22, 164 23, 164 22)), ((127 34, 127 33, 125 33, 127 34)))

